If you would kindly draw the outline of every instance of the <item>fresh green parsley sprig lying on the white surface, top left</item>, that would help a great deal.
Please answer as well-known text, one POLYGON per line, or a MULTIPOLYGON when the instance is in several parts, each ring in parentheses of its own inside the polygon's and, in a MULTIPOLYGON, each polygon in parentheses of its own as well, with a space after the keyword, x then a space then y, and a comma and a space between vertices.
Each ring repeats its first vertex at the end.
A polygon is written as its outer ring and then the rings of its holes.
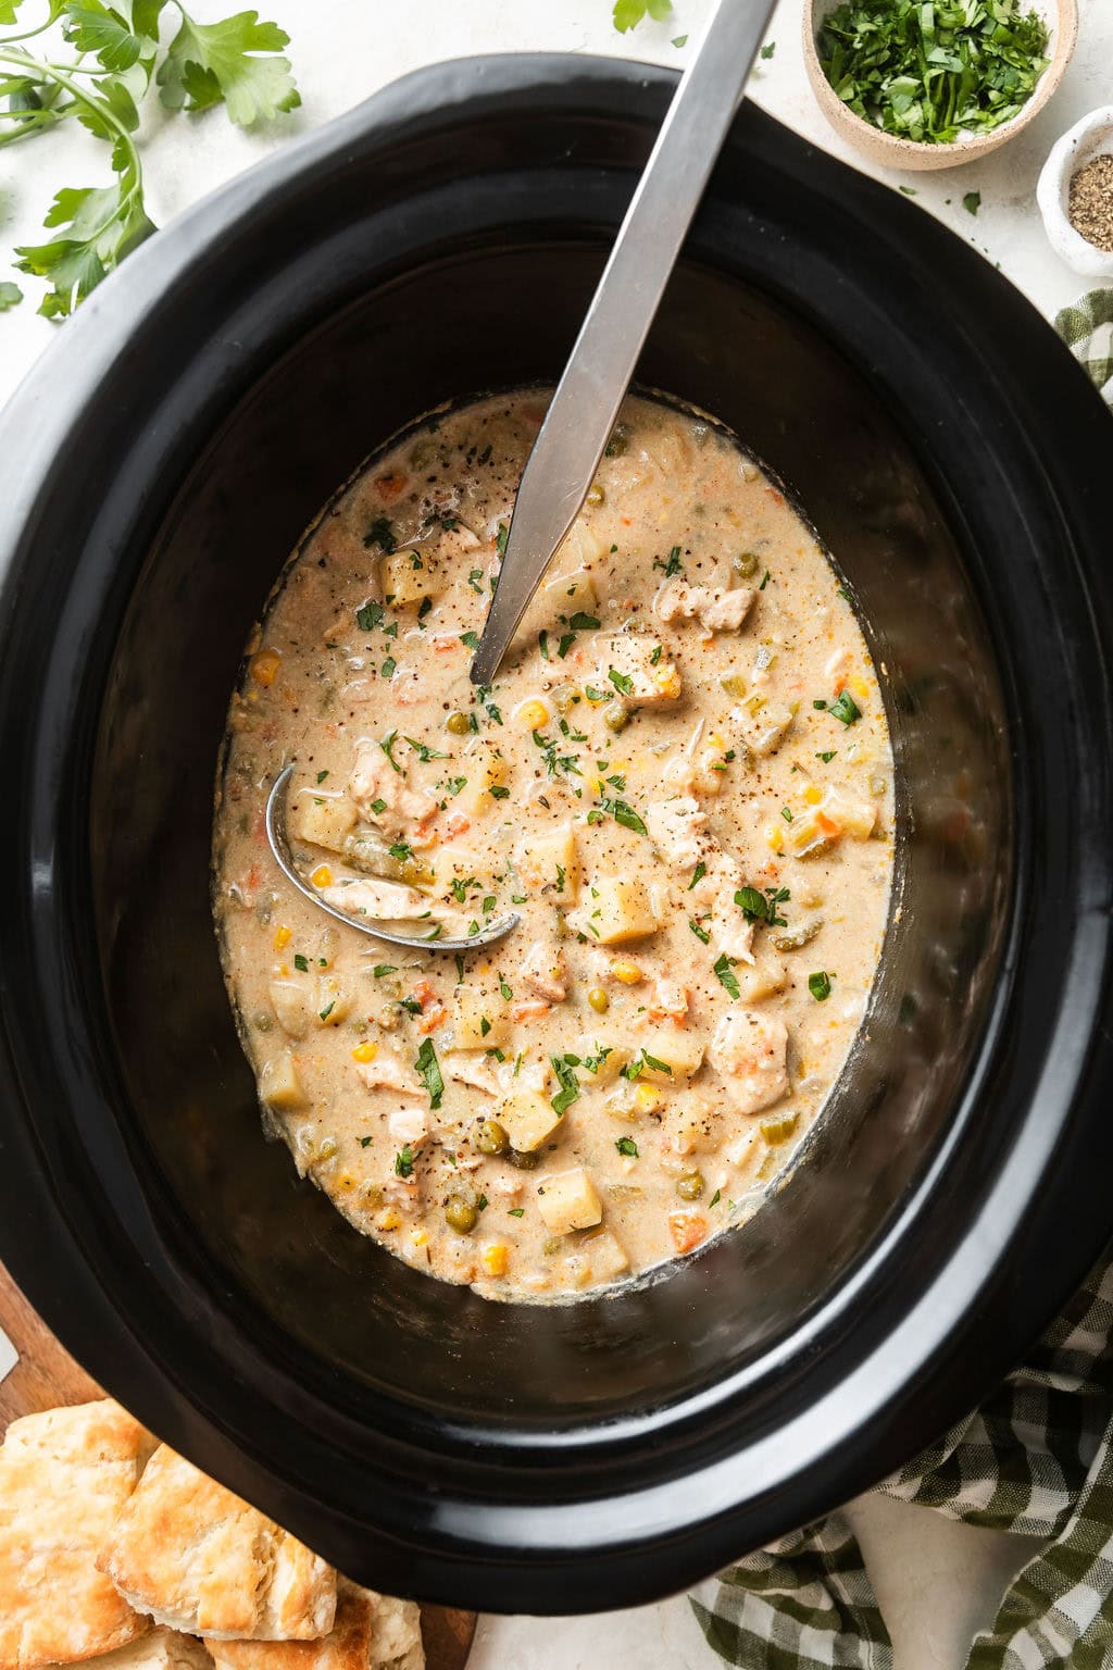
MULTIPOLYGON (((15 23, 25 0, 0 0, 0 25, 15 23)), ((257 12, 197 23, 182 0, 47 0, 37 27, 0 35, 0 145, 30 139, 73 117, 110 147, 110 185, 65 187, 45 217, 53 234, 15 250, 20 272, 47 279, 38 312, 62 319, 113 267, 150 237, 144 169, 135 132, 140 107, 159 87, 169 110, 207 110, 224 104, 232 122, 252 127, 294 110, 300 95, 282 55, 289 37, 257 12), (162 13, 174 8, 179 28, 160 47, 162 13), (27 42, 62 25, 75 48, 70 63, 32 52, 27 42), (88 62, 92 60, 92 62, 88 62)), ((13 294, 15 292, 15 294, 13 294)), ((5 286, 7 306, 18 299, 5 286)))

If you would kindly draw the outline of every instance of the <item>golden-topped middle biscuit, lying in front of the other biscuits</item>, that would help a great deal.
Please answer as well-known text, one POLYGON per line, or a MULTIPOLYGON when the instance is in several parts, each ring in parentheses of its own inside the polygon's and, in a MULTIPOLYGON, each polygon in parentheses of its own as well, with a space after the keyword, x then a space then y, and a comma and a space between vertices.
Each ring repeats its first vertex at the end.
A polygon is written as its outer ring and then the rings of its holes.
POLYGON ((98 1565, 137 1612, 189 1635, 310 1642, 332 1630, 332 1566, 165 1445, 98 1565))

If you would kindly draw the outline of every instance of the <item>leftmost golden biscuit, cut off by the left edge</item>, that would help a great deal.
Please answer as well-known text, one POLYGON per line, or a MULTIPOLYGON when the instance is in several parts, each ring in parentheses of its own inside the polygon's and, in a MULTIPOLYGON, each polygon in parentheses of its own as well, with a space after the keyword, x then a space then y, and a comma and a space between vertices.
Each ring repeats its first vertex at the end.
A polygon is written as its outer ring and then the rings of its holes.
POLYGON ((0 1670, 93 1658, 150 1627, 95 1560, 154 1448, 110 1398, 12 1421, 0 1448, 0 1670))

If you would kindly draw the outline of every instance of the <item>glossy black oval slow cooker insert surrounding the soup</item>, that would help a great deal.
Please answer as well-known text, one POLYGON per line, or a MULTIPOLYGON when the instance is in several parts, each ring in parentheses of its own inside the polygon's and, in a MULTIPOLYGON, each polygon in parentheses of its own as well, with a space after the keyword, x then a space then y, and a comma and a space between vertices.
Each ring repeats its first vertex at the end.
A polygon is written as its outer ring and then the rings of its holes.
POLYGON ((799 494, 883 670, 853 1067, 746 1227, 572 1306, 419 1276, 262 1141, 209 913, 247 628, 399 424, 559 374, 672 87, 409 77, 140 249, 0 423, 0 1256, 352 1576, 496 1610, 661 1595, 848 1498, 1108 1234, 1113 428, 988 262, 753 105, 639 379, 799 494))

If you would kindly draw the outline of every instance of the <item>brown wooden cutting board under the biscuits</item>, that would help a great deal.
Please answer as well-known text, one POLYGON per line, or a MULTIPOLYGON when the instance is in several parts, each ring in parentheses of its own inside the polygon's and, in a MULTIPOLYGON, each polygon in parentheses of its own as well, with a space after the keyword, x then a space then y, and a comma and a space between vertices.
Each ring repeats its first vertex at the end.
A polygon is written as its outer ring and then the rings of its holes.
MULTIPOLYGON (((18 1363, 0 1379, 0 1428, 17 1414, 88 1403, 103 1393, 62 1346, 0 1264, 0 1329, 18 1351, 18 1363)), ((476 1635, 476 1613, 454 1607, 421 1608, 426 1670, 464 1670, 476 1635)))

